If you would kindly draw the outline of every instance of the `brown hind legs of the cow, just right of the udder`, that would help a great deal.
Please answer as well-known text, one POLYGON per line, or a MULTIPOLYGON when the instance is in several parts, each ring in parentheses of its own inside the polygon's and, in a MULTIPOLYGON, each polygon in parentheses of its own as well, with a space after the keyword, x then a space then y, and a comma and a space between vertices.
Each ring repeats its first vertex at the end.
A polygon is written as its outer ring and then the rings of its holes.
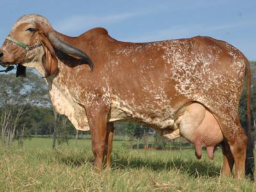
MULTIPOLYGON (((230 152, 234 158, 235 164, 235 173, 236 178, 241 179, 244 177, 245 170, 245 159, 246 159, 246 145, 247 145, 247 136, 241 127, 239 122, 239 118, 236 118, 236 121, 232 124, 232 122, 228 122, 228 126, 225 124, 221 124, 221 131, 227 141, 230 152)), ((230 154, 228 154, 227 148, 224 148, 224 160, 223 160, 223 175, 230 175, 232 171, 232 158, 230 154), (230 173, 229 173, 230 172, 230 173)))

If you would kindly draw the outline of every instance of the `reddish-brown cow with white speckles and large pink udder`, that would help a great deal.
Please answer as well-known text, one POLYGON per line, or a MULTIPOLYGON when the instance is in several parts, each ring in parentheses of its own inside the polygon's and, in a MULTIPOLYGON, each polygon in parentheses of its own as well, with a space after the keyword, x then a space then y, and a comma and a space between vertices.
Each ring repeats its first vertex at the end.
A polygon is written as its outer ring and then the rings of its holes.
POLYGON ((238 105, 246 69, 250 96, 250 65, 227 42, 207 36, 120 42, 103 28, 70 37, 40 15, 24 15, 4 41, 0 63, 17 63, 17 76, 33 67, 45 77, 56 111, 76 129, 90 129, 96 168, 104 154, 110 166, 113 122, 131 120, 166 138, 184 136, 198 158, 202 146, 213 158, 224 138, 223 175, 234 164, 236 177, 244 175, 247 137, 238 105))

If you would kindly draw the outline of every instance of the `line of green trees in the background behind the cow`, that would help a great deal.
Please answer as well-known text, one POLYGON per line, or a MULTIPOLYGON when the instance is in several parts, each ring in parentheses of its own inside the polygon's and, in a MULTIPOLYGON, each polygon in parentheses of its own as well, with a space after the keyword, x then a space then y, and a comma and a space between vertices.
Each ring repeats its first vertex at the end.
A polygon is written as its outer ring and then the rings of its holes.
MULTIPOLYGON (((250 63, 252 67, 252 128, 255 129, 256 61, 250 63)), ((246 127, 246 86, 241 95, 239 116, 241 124, 246 127)), ((56 142, 68 144, 70 138, 78 136, 78 132, 69 120, 54 112, 47 84, 33 70, 28 70, 26 78, 17 78, 13 73, 0 74, 0 129, 1 143, 9 147, 14 140, 17 140, 22 147, 26 138, 47 136, 54 138, 52 144, 54 148, 56 142)), ((90 134, 90 132, 80 132, 80 134, 90 134)), ((141 140, 144 147, 150 147, 148 143, 150 136, 154 136, 154 143, 158 143, 157 145, 164 147, 167 143, 150 127, 131 122, 115 122, 115 134, 126 136, 131 143, 130 147, 133 147, 133 143, 137 140, 141 140)))

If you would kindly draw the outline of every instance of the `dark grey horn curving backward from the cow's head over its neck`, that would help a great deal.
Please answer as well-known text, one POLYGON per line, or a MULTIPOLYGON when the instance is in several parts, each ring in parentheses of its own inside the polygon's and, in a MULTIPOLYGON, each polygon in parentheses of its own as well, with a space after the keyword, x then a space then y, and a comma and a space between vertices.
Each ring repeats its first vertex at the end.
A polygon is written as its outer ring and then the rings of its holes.
POLYGON ((91 70, 93 70, 93 62, 85 52, 77 49, 76 47, 73 47, 72 45, 67 44, 63 40, 60 40, 60 38, 54 36, 52 33, 49 33, 48 38, 56 49, 81 58, 82 60, 84 60, 84 62, 86 62, 86 64, 89 64, 91 70))

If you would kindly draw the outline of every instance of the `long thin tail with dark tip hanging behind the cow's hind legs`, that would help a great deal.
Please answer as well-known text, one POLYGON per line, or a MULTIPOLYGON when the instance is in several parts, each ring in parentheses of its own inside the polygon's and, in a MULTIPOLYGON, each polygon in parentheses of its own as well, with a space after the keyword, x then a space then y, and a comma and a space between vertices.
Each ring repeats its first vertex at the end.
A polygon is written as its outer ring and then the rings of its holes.
POLYGON ((246 163, 245 163, 245 175, 250 179, 254 180, 253 171, 254 171, 254 155, 253 155, 253 148, 254 148, 254 138, 252 134, 252 116, 251 116, 251 68, 250 62, 246 60, 246 95, 247 95, 247 136, 248 136, 248 143, 246 149, 246 163))

